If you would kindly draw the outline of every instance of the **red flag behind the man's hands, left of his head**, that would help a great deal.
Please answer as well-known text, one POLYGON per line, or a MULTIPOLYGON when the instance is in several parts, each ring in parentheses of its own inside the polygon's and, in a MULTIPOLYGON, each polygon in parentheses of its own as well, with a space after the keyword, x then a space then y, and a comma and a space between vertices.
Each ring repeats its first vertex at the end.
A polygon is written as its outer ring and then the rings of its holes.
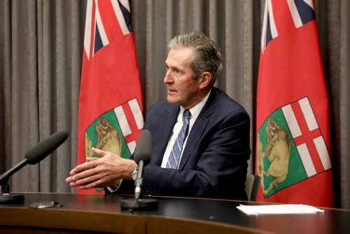
MULTIPOLYGON (((130 157, 144 126, 128 0, 88 1, 78 117, 78 164, 91 147, 130 157)), ((102 188, 80 190, 99 193, 102 188)))

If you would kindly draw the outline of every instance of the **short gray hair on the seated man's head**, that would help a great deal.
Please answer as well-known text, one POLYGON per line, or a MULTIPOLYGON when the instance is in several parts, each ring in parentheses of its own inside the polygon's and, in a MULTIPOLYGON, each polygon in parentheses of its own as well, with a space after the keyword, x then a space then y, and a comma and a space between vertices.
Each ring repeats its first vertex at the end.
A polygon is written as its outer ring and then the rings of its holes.
POLYGON ((190 32, 175 36, 169 41, 170 49, 193 48, 193 57, 188 66, 195 73, 195 79, 204 71, 209 71, 211 74, 210 87, 214 83, 223 69, 223 58, 221 57, 220 48, 218 45, 209 39, 205 34, 200 32, 190 32))

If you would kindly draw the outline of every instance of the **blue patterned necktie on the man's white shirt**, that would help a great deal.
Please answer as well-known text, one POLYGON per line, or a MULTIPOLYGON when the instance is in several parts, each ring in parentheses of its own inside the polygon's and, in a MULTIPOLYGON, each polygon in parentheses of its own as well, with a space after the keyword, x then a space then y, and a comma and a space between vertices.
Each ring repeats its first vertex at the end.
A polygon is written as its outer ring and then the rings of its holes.
POLYGON ((176 138, 172 152, 170 153, 169 160, 167 162, 167 168, 177 168, 179 164, 179 158, 182 151, 183 142, 188 134, 188 123, 190 122, 191 113, 188 110, 183 111, 183 125, 179 135, 176 138))

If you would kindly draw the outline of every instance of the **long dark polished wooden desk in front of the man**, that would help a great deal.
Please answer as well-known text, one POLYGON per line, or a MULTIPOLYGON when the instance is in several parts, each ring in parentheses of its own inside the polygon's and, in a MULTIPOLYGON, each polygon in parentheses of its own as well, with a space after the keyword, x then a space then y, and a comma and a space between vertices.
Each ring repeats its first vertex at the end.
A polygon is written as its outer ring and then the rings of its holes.
POLYGON ((25 193, 25 203, 0 205, 0 233, 350 233, 350 211, 248 216, 237 205, 261 202, 198 198, 158 199, 159 209, 120 209, 123 195, 25 193), (33 209, 41 201, 62 208, 33 209))

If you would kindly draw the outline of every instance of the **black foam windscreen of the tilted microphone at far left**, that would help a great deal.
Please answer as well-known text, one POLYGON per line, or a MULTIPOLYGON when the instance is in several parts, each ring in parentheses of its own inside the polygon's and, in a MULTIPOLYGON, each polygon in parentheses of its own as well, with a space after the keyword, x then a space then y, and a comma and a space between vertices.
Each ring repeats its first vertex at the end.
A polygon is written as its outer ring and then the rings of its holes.
POLYGON ((31 165, 40 162, 50 153, 55 151, 55 149, 57 149, 57 147, 60 146, 68 136, 69 132, 67 131, 59 131, 50 135, 50 137, 31 147, 31 149, 25 154, 25 158, 27 158, 28 163, 31 165))

